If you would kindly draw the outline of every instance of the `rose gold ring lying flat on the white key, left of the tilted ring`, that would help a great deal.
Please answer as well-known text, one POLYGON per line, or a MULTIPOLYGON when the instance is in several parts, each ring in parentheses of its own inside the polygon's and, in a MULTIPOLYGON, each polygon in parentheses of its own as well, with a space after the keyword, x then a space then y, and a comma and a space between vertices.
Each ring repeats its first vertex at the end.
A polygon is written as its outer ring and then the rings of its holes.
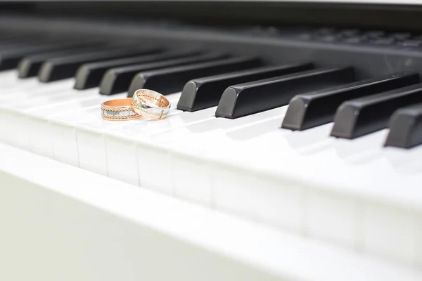
POLYGON ((134 120, 141 115, 134 112, 131 98, 108 100, 101 104, 101 116, 110 121, 134 120))

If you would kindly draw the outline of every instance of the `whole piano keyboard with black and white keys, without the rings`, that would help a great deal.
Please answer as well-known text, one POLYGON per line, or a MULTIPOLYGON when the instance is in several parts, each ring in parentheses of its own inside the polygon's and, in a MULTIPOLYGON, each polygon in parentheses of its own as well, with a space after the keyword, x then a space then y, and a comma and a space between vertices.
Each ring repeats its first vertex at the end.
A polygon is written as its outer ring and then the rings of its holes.
POLYGON ((1 142, 422 267, 420 35, 23 23, 1 25, 1 142), (167 119, 101 118, 143 88, 167 119))

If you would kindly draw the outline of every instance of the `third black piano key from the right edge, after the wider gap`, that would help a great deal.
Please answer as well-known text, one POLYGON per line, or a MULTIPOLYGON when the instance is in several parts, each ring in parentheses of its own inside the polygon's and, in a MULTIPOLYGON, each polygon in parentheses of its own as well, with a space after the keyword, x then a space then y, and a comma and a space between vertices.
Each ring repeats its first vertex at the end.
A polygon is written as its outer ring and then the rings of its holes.
POLYGON ((301 131, 333 122, 335 111, 346 100, 369 96, 418 82, 418 74, 403 72, 322 89, 321 91, 303 93, 290 100, 281 127, 301 131))

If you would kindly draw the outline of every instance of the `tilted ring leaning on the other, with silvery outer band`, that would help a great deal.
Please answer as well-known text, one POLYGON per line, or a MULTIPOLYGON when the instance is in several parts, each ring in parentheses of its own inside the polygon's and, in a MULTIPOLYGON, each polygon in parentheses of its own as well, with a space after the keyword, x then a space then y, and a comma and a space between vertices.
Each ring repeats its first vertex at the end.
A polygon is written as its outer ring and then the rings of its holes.
POLYGON ((132 97, 134 112, 150 119, 165 119, 170 112, 170 101, 155 91, 140 89, 132 97))

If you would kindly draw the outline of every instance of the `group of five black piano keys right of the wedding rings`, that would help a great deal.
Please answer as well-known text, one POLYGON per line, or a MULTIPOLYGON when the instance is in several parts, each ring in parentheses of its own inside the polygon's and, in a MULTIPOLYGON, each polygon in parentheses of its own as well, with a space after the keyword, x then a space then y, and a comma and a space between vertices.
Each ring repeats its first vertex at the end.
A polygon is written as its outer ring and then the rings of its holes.
POLYGON ((238 118, 289 105, 284 129, 302 131, 334 122, 331 136, 352 139, 385 129, 390 120, 385 145, 412 148, 422 144, 418 74, 402 72, 355 81, 351 67, 304 71, 311 67, 262 67, 193 79, 184 86, 177 108, 196 111, 218 105, 217 117, 238 118), (236 84, 274 70, 285 74, 236 84))

